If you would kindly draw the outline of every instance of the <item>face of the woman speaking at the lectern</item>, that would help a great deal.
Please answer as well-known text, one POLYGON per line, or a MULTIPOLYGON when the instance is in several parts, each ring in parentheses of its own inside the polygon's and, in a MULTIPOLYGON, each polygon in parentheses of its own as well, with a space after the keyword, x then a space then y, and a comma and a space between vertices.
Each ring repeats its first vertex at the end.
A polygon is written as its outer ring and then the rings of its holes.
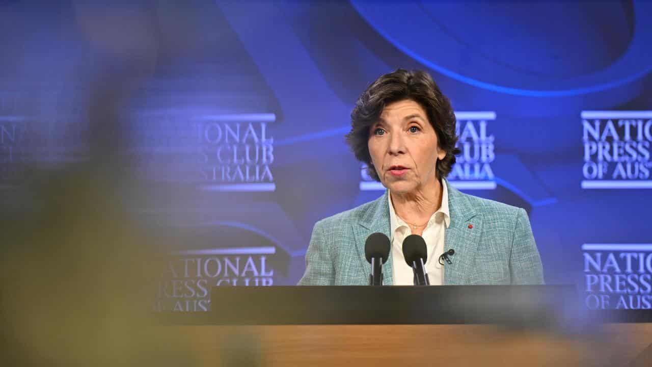
POLYGON ((414 193, 436 180, 437 134, 419 103, 388 104, 370 128, 369 153, 380 181, 393 193, 414 193))

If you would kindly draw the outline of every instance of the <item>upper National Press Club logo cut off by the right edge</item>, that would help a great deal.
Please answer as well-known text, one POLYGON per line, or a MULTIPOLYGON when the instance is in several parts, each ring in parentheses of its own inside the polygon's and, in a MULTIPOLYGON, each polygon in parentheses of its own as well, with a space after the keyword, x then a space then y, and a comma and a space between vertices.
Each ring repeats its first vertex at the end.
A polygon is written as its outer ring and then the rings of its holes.
POLYGON ((582 189, 652 188, 652 111, 582 111, 582 189))

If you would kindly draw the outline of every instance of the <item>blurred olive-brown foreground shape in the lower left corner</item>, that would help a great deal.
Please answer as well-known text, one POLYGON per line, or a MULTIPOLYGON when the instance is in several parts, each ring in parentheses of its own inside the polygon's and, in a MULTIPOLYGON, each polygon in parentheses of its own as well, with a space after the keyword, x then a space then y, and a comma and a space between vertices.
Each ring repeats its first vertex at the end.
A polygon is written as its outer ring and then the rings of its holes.
POLYGON ((1 365, 192 365, 151 315, 152 248, 114 183, 92 169, 38 174, 26 186, 38 209, 3 217, 1 365))

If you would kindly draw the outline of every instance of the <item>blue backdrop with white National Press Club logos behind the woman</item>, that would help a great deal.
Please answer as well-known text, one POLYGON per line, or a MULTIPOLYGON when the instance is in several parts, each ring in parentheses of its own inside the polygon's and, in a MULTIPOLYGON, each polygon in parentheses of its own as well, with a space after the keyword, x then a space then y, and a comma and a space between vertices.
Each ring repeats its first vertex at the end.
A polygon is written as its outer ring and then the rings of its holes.
POLYGON ((351 108, 379 75, 424 69, 458 116, 451 182, 527 210, 548 283, 650 308, 651 16, 649 1, 2 1, 0 186, 12 197, 26 162, 119 152, 140 185, 126 210, 173 253, 155 308, 207 310, 212 285, 295 284, 315 221, 381 195, 344 144, 351 108), (103 103, 117 141, 91 133, 103 103))

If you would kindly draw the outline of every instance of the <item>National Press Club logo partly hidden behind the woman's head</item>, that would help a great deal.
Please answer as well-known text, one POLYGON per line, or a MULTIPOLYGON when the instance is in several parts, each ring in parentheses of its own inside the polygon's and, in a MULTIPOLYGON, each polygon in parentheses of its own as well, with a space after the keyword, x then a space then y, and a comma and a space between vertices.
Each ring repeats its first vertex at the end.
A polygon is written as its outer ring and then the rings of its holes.
MULTIPOLYGON (((496 120, 496 112, 455 112, 456 134, 459 136, 457 156, 449 174, 449 182, 457 189, 486 190, 496 189, 496 181, 491 163, 496 159, 494 135, 488 132, 488 121, 496 120)), ((360 189, 384 190, 380 182, 375 182, 366 173, 366 165, 361 170, 360 189)))

